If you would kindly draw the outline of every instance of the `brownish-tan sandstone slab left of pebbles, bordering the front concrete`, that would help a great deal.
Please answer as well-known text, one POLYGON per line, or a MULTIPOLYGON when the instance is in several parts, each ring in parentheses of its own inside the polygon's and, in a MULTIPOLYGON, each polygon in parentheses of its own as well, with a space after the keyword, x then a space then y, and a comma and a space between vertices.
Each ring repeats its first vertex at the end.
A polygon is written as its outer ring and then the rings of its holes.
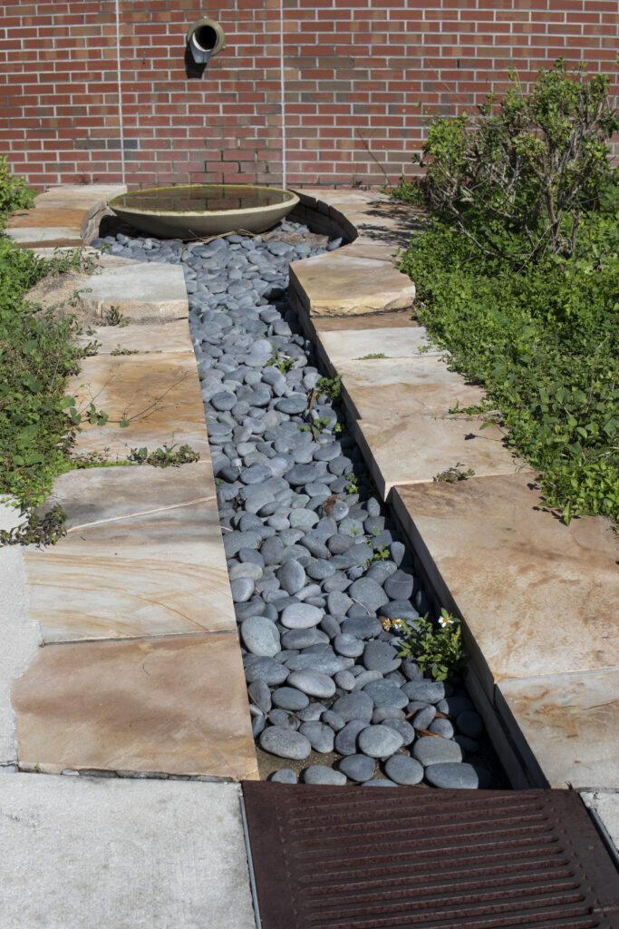
POLYGON ((48 645, 12 699, 26 770, 257 778, 235 634, 48 645))

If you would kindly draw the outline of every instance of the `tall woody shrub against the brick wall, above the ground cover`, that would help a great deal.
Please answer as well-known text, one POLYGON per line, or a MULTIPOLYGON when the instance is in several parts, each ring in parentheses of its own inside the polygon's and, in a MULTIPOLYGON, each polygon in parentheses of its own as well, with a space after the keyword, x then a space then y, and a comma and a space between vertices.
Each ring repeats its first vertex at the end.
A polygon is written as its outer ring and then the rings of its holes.
MULTIPOLYGON (((471 117, 435 120, 421 157, 423 189, 442 217, 484 254, 521 265, 547 253, 570 256, 581 218, 600 201, 610 167, 606 139, 619 129, 610 79, 567 72, 559 59, 526 96, 515 74, 496 104, 471 117)), ((412 198, 415 187, 399 194, 412 198)))

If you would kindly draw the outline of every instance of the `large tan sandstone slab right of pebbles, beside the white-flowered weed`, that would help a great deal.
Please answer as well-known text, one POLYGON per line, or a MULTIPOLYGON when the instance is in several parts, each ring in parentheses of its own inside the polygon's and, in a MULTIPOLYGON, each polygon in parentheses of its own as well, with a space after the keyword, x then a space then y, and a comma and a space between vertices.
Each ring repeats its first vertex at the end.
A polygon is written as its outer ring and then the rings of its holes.
POLYGON ((392 503, 445 606, 476 642, 492 699, 504 678, 619 665, 619 545, 604 517, 569 526, 534 476, 398 486, 392 503))

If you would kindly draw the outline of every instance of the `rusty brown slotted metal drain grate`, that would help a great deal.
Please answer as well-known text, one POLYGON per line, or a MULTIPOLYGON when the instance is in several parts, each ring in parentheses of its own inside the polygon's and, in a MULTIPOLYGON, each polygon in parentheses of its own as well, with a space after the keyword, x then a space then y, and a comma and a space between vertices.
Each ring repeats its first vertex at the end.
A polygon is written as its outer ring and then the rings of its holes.
POLYGON ((262 929, 619 929, 569 791, 243 783, 262 929))

